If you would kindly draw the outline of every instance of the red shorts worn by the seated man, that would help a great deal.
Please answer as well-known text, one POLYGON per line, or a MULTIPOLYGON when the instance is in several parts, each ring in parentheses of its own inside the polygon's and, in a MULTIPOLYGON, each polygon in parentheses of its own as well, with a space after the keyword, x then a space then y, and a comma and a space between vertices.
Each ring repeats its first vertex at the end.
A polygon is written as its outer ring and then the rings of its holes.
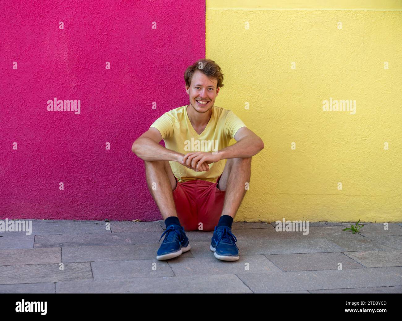
POLYGON ((213 231, 218 225, 226 193, 217 188, 221 176, 216 183, 199 179, 179 183, 175 177, 177 186, 172 192, 173 200, 185 231, 213 231))

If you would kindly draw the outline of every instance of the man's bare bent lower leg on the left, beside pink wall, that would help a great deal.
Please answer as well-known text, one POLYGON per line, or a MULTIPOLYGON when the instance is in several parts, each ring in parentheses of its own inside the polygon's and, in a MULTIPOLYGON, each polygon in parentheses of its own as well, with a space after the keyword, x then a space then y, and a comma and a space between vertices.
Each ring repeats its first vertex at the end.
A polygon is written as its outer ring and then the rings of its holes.
POLYGON ((168 161, 144 161, 148 188, 165 220, 177 217, 172 190, 176 188, 176 179, 168 161), (155 189, 152 189, 154 187, 155 189))

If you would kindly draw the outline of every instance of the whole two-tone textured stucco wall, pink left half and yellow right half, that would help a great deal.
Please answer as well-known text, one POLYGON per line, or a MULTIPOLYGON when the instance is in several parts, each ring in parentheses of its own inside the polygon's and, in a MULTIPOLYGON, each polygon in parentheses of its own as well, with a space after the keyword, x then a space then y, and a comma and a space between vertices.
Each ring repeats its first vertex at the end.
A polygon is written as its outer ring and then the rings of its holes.
POLYGON ((1 218, 160 219, 131 143, 187 103, 183 72, 206 42, 225 74, 216 104, 265 143, 237 221, 401 221, 401 1, 208 0, 206 17, 203 1, 0 10, 1 218), (81 113, 48 112, 54 97, 81 113), (324 112, 329 97, 356 100, 356 114, 324 112))

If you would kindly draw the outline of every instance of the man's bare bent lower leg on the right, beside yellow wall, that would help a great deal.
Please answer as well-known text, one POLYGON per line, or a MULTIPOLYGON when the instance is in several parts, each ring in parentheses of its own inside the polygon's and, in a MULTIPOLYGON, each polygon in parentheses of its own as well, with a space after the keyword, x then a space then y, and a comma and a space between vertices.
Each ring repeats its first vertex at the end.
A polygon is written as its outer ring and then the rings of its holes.
POLYGON ((235 217, 246 194, 245 183, 250 183, 250 176, 251 157, 229 158, 227 160, 217 186, 219 190, 226 190, 222 215, 235 217))

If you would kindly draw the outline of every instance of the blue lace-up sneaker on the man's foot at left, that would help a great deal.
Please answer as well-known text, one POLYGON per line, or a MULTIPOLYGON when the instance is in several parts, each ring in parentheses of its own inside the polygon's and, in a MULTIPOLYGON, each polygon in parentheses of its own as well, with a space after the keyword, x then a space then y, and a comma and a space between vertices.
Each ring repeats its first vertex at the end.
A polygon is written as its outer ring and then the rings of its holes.
MULTIPOLYGON (((183 252, 187 252, 191 247, 189 238, 184 232, 184 227, 172 224, 166 227, 162 236, 165 235, 158 252, 156 253, 156 260, 168 260, 179 256, 183 252)), ((162 239, 162 236, 160 239, 162 239)), ((159 239, 159 241, 160 241, 159 239)), ((159 242, 158 241, 158 242, 159 242)))

